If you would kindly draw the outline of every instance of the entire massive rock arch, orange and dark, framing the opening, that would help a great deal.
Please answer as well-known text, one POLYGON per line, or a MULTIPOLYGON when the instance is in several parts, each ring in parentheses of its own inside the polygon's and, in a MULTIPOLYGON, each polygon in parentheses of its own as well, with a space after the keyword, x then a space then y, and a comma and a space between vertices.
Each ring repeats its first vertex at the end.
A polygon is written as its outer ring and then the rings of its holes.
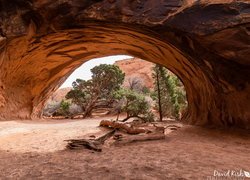
POLYGON ((127 54, 183 81, 194 125, 250 128, 249 0, 1 0, 0 119, 35 119, 83 62, 127 54))

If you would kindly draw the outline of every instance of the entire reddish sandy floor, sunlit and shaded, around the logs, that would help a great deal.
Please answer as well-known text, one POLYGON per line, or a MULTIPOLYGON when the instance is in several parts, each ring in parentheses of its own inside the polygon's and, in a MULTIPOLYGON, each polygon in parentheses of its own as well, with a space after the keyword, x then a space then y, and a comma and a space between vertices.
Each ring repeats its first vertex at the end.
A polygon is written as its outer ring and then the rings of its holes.
POLYGON ((166 140, 63 150, 63 140, 100 131, 98 122, 0 122, 0 179, 211 179, 215 171, 250 171, 250 132, 243 130, 185 125, 166 140))

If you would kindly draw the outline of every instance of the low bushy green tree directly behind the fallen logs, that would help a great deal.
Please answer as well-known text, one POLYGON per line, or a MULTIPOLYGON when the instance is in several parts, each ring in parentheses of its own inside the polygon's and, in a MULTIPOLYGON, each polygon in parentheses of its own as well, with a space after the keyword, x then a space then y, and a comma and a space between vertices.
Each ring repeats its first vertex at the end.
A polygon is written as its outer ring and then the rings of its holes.
POLYGON ((127 113, 127 117, 123 121, 132 117, 137 117, 144 121, 154 121, 153 113, 150 111, 150 105, 145 95, 131 89, 122 88, 115 91, 113 96, 120 102, 119 107, 121 109, 119 112, 127 113))

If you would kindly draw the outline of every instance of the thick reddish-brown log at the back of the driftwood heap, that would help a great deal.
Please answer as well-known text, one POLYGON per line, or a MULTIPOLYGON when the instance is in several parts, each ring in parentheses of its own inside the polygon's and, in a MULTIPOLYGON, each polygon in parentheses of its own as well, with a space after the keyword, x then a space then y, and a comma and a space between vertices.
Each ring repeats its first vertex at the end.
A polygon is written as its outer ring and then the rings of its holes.
POLYGON ((129 127, 128 125, 124 123, 119 123, 115 121, 108 121, 108 120, 102 120, 100 122, 100 126, 103 127, 109 127, 113 129, 119 129, 122 131, 125 131, 128 134, 140 134, 140 133, 149 133, 149 130, 146 129, 141 129, 141 128, 134 128, 134 127, 129 127))

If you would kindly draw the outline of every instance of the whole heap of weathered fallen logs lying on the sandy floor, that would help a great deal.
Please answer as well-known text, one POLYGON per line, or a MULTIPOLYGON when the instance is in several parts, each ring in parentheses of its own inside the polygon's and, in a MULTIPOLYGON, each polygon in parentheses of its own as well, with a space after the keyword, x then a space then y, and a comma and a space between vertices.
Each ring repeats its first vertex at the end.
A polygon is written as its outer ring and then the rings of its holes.
POLYGON ((68 141, 67 148, 87 148, 100 152, 103 147, 110 147, 111 145, 124 145, 133 142, 165 139, 166 135, 171 131, 180 128, 176 125, 157 126, 155 124, 143 124, 142 128, 125 124, 123 122, 109 120, 102 120, 100 126, 107 127, 111 130, 98 138, 95 138, 96 136, 92 135, 89 139, 66 140, 68 141))

